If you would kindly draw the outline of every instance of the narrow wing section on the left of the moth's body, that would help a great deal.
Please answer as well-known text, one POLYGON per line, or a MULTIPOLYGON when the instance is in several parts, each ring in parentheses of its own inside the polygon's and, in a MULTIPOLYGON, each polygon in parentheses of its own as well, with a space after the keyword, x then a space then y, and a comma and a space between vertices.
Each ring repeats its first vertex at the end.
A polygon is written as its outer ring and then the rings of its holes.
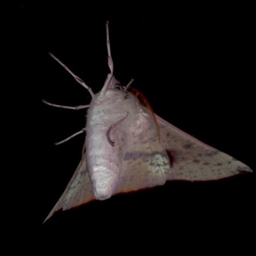
POLYGON ((66 211, 79 205, 86 204, 92 200, 95 200, 95 196, 93 195, 92 182, 87 172, 86 157, 84 156, 83 160, 77 166, 76 172, 68 183, 67 188, 45 221, 51 218, 54 212, 57 212, 60 209, 66 211))

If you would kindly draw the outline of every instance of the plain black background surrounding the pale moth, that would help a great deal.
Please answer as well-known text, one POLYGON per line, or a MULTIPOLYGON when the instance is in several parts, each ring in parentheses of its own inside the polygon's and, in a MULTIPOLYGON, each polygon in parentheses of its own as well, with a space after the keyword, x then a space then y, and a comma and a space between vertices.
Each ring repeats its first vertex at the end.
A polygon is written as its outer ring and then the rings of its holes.
POLYGON ((168 182, 42 225, 76 170, 84 135, 53 143, 82 129, 86 110, 41 100, 90 103, 48 52, 99 92, 109 72, 106 20, 116 78, 134 78, 157 115, 256 170, 250 6, 20 1, 2 12, 2 221, 10 251, 209 252, 255 243, 254 173, 168 182))

